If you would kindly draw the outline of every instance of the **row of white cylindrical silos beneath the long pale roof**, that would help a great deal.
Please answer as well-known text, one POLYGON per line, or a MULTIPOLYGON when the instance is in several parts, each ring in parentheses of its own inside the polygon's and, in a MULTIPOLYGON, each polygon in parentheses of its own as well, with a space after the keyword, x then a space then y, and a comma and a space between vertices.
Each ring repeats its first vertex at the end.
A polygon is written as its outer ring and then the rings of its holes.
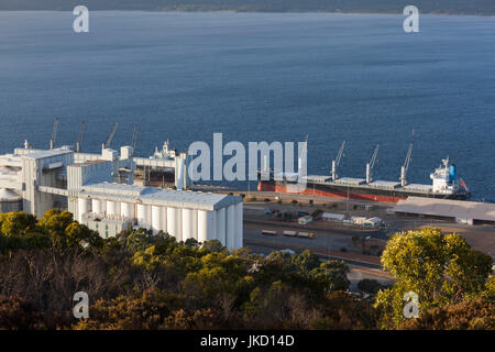
POLYGON ((196 239, 198 242, 219 240, 229 250, 242 246, 242 202, 215 210, 166 207, 141 202, 78 199, 79 221, 89 211, 99 216, 120 216, 135 220, 136 226, 174 235, 178 241, 196 239))

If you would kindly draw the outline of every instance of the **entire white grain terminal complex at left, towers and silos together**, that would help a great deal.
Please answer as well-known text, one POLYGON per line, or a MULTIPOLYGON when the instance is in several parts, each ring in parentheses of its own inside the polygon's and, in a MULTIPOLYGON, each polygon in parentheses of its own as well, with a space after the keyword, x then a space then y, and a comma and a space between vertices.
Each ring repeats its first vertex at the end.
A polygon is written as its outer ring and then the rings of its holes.
MULTIPOLYGON (((50 209, 68 210, 103 238, 146 228, 178 241, 219 240, 229 250, 242 246, 242 198, 133 186, 135 160, 140 158, 133 157, 131 146, 122 146, 120 154, 108 147, 88 154, 68 146, 34 150, 26 142, 24 148, 0 155, 0 211, 23 210, 41 218, 50 209)), ((175 162, 179 170, 185 168, 182 160, 175 162)))

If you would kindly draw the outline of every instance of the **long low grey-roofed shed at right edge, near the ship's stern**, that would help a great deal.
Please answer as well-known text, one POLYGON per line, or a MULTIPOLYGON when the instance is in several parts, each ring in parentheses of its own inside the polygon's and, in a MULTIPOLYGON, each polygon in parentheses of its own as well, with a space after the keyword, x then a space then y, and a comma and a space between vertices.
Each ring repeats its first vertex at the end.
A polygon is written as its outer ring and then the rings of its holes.
POLYGON ((439 218, 468 224, 495 224, 495 205, 485 202, 409 197, 398 201, 393 212, 439 218))

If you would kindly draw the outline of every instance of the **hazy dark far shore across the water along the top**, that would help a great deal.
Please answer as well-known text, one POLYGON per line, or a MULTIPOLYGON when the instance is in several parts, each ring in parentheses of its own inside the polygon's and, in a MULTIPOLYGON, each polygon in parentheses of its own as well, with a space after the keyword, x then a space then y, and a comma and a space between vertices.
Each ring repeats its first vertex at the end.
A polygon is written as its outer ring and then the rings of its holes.
MULTIPOLYGON (((76 0, 0 0, 0 10, 72 10, 76 0)), ((408 0, 86 0, 90 10, 402 13, 408 0)), ((416 0, 422 13, 495 14, 493 0, 416 0)))

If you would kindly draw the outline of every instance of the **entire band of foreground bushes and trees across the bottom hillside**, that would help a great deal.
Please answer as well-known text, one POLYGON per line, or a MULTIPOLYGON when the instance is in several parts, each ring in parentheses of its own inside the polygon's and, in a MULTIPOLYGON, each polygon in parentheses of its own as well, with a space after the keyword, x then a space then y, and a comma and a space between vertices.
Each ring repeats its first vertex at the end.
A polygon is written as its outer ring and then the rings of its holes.
POLYGON ((495 328, 492 261, 458 235, 397 234, 383 255, 395 285, 350 294, 348 266, 309 251, 230 253, 144 229, 103 240, 72 219, 0 216, 0 329, 495 328), (421 316, 405 320, 397 297, 414 289, 421 316), (89 319, 73 317, 76 292, 89 319))

